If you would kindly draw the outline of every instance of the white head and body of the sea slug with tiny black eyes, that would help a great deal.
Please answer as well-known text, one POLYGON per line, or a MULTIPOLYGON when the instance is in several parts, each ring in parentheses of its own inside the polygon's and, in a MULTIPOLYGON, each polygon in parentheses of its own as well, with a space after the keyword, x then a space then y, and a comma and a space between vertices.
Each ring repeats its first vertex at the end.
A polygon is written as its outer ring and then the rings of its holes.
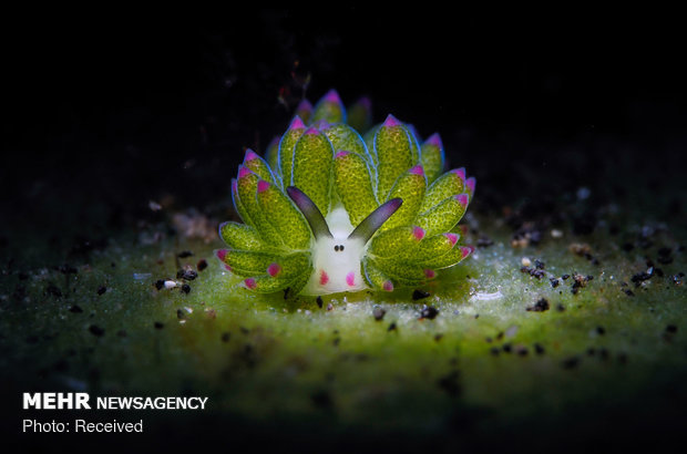
POLYGON ((360 274, 360 262, 367 244, 360 238, 348 238, 353 231, 353 226, 344 206, 334 208, 326 220, 331 237, 312 240, 310 251, 314 272, 303 293, 316 296, 367 289, 366 280, 360 274))

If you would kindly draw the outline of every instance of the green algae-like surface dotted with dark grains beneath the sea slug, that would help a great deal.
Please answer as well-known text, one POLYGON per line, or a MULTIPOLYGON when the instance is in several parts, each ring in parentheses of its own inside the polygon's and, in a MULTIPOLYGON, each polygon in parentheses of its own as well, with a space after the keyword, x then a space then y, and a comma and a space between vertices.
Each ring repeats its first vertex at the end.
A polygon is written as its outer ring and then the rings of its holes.
POLYGON ((275 436, 458 445, 570 430, 584 442, 605 424, 673 417, 686 391, 684 230, 548 229, 515 244, 489 218, 466 225, 480 247, 430 286, 320 301, 255 295, 213 259, 218 239, 182 235, 9 270, 6 392, 209 398, 202 415, 146 416, 152 433, 229 419, 275 436))

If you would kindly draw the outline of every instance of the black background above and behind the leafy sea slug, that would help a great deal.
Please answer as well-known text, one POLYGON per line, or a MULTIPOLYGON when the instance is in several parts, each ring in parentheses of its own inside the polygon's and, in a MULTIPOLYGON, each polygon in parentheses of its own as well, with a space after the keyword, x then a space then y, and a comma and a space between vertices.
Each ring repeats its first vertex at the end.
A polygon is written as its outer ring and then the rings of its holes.
POLYGON ((618 163, 654 189, 680 176, 674 14, 392 11, 6 30, 3 213, 69 224, 44 205, 103 205, 92 221, 121 227, 168 194, 180 209, 226 202, 243 151, 284 131, 306 81, 312 102, 336 87, 347 104, 371 96, 377 121, 392 112, 425 137, 439 131, 450 164, 488 188, 481 211, 603 186, 618 163))

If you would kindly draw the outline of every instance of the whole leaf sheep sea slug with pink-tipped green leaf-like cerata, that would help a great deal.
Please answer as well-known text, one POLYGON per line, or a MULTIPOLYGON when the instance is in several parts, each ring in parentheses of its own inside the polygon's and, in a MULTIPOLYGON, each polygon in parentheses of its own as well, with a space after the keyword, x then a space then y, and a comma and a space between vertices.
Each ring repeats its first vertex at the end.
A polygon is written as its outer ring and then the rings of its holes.
POLYGON ((228 248, 215 254, 262 293, 422 285, 474 251, 454 230, 475 180, 444 165, 438 133, 420 142, 393 115, 371 126, 368 99, 304 100, 265 158, 246 151, 232 180, 244 224, 219 226, 228 248))

